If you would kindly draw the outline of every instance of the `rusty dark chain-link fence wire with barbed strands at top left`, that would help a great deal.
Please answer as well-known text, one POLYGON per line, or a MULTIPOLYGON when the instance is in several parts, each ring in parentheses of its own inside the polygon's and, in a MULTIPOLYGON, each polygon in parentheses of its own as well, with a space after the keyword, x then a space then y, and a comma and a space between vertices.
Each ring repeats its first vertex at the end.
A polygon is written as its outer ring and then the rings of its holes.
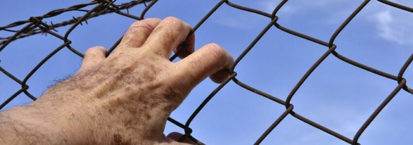
MULTIPOLYGON (((10 101, 12 101, 13 99, 15 99, 17 97, 17 95, 24 93, 27 95, 27 97, 29 97, 30 99, 32 99, 33 101, 36 100, 36 97, 34 97, 32 94, 30 94, 30 92, 27 91, 27 89, 29 88, 29 86, 26 84, 26 82, 30 79, 30 77, 46 62, 48 61, 49 58, 51 58, 53 55, 55 55, 58 51, 62 50, 63 48, 68 48, 70 51, 72 51, 73 53, 75 53, 76 55, 78 55, 79 57, 84 57, 84 55, 80 52, 78 52, 75 48, 71 47, 71 41, 68 39, 68 36, 70 35, 70 32, 73 29, 76 29, 79 25, 83 25, 84 23, 87 24, 87 20, 93 17, 97 17, 100 16, 102 14, 109 14, 109 13, 116 13, 116 14, 120 14, 132 19, 136 19, 136 20, 142 20, 144 19, 144 16, 146 14, 146 12, 151 9, 151 7, 158 1, 158 0, 132 0, 130 2, 127 3, 122 3, 122 4, 115 4, 116 0, 93 0, 91 2, 88 3, 83 3, 83 4, 77 4, 77 5, 73 5, 71 7, 68 7, 66 9, 58 9, 58 10, 53 10, 47 14, 44 14, 42 16, 33 16, 30 17, 29 20, 24 20, 24 21, 17 21, 14 23, 11 23, 9 25, 0 27, 0 31, 10 31, 10 32, 15 32, 15 34, 13 36, 10 37, 6 37, 6 38, 1 38, 0 37, 0 52, 6 48, 6 46, 11 43, 14 40, 17 39, 21 39, 24 37, 28 37, 28 36, 32 36, 35 34, 50 34, 60 40, 63 41, 63 44, 60 45, 59 47, 57 47, 56 49, 54 49, 54 51, 52 51, 52 53, 50 53, 46 58, 43 58, 42 61, 40 61, 34 68, 33 70, 28 73, 26 75, 26 77, 23 80, 19 80, 17 79, 17 77, 15 77, 13 74, 8 73, 6 70, 4 70, 1 66, 0 66, 0 71, 4 74, 6 74, 8 77, 10 77, 11 79, 13 79, 15 82, 17 82, 18 84, 21 85, 21 89, 19 89, 15 94, 13 94, 12 96, 10 96, 5 102, 3 102, 0 105, 0 109, 3 108, 5 105, 7 105, 10 101), (133 6, 136 6, 138 4, 144 4, 145 5, 145 9, 141 12, 141 14, 139 16, 137 15, 133 15, 133 14, 129 14, 129 8, 132 8, 133 6), (88 6, 94 6, 92 9, 90 10, 86 10, 84 9, 85 7, 88 6), (121 10, 126 10, 125 12, 122 12, 121 10), (44 18, 48 18, 48 17, 53 17, 53 16, 57 16, 59 14, 63 14, 66 12, 70 12, 70 11, 81 11, 81 12, 85 12, 86 14, 84 14, 81 17, 72 17, 70 20, 68 21, 64 21, 61 23, 57 23, 57 24, 47 24, 46 22, 43 22, 42 20, 44 18), (23 26, 25 25, 22 29, 19 30, 12 30, 13 28, 16 28, 18 26, 23 26), (62 26, 68 26, 71 25, 71 27, 69 28, 68 31, 66 31, 65 35, 59 35, 57 33, 55 33, 56 28, 58 27, 62 27, 62 26)), ((408 12, 413 13, 413 8, 401 5, 401 4, 397 4, 395 2, 392 1, 388 1, 388 0, 377 0, 379 2, 382 2, 384 4, 387 4, 389 6, 398 8, 398 9, 402 9, 408 12)), ((354 10, 354 12, 352 14, 350 14, 347 19, 342 23, 342 25, 336 29, 336 31, 332 34, 332 36, 330 37, 330 40, 328 42, 324 42, 322 40, 319 40, 317 38, 308 36, 306 34, 294 31, 292 29, 288 29, 286 27, 281 26, 280 24, 277 23, 278 20, 278 16, 277 16, 277 12, 278 10, 280 10, 286 3, 288 2, 288 0, 282 0, 274 9, 272 14, 268 14, 256 9, 252 9, 252 8, 248 8, 248 7, 244 7, 241 5, 237 5, 235 3, 230 2, 229 0, 221 0, 220 2, 218 2, 196 25, 195 27, 193 27, 192 31, 190 33, 193 33, 194 31, 196 31, 196 29, 198 29, 208 18, 209 16, 211 16, 211 14, 213 14, 218 8, 220 8, 223 4, 227 4, 228 6, 231 6, 235 9, 239 9, 242 11, 246 11, 246 12, 250 12, 250 13, 255 13, 264 17, 268 17, 271 19, 271 22, 268 23, 268 25, 258 34, 258 36, 254 39, 254 41, 252 41, 250 43, 250 45, 241 53, 240 56, 238 56, 238 58, 235 60, 235 64, 234 66, 230 69, 230 76, 223 82, 221 83, 218 87, 215 88, 215 90, 213 90, 209 96, 206 97, 206 99, 204 100, 204 102, 202 102, 199 107, 193 112, 193 114, 188 118, 188 120, 184 123, 178 122, 176 120, 174 120, 173 118, 169 117, 168 121, 172 122, 173 124, 177 125, 178 127, 182 128, 185 131, 184 136, 182 136, 178 141, 182 141, 184 138, 188 137, 190 140, 192 140, 193 142, 199 144, 199 145, 204 145, 202 142, 198 141, 195 137, 193 137, 191 135, 192 129, 189 127, 190 123, 192 122, 192 120, 198 115, 198 113, 202 110, 202 108, 208 103, 209 100, 211 100, 214 95, 220 91, 229 81, 233 81, 234 83, 238 84, 240 87, 243 87, 247 90, 250 90, 262 97, 268 98, 271 101, 274 101, 278 104, 284 105, 286 110, 284 111, 284 113, 282 113, 275 121, 274 123, 266 130, 262 133, 262 135, 257 139, 257 141, 255 142, 255 145, 260 144, 265 137, 274 130, 274 128, 288 115, 291 115, 319 130, 325 131, 328 134, 335 136, 336 138, 351 144, 351 145, 360 145, 358 143, 358 140, 361 136, 361 134, 363 133, 363 131, 369 126, 369 124, 374 120, 374 118, 380 113, 380 111, 395 97, 395 95, 401 90, 403 89, 404 91, 407 91, 411 94, 413 94, 413 90, 408 87, 406 85, 406 79, 403 78, 403 74, 406 71, 406 69, 408 68, 408 66, 410 65, 410 63, 413 60, 413 54, 406 60, 405 64, 401 67, 399 73, 397 75, 392 75, 389 73, 385 73, 382 72, 380 70, 374 69, 372 67, 363 65, 359 62, 356 62, 350 58, 346 58, 342 55, 340 55, 338 52, 335 51, 336 49, 336 45, 334 44, 334 40, 335 38, 340 34, 340 32, 347 26, 347 24, 370 2, 370 0, 364 0, 359 7, 354 10), (275 27, 277 29, 280 29, 284 32, 290 33, 292 35, 295 35, 297 37, 301 37, 302 39, 306 39, 308 41, 311 41, 313 43, 318 43, 320 45, 326 46, 328 49, 327 51, 320 56, 320 58, 318 58, 318 60, 316 62, 314 62, 314 64, 310 67, 310 69, 302 76, 302 78, 298 81, 298 83, 295 85, 295 87, 293 87, 293 90, 291 90, 290 94, 288 95, 287 99, 281 100, 278 99, 275 96, 272 96, 270 94, 267 94, 265 92, 262 92, 254 87, 250 87, 247 84, 242 83, 241 81, 239 81, 236 78, 237 73, 234 72, 234 68, 237 66, 237 64, 241 61, 241 59, 243 57, 245 57, 245 55, 248 54, 248 52, 254 47, 254 45, 260 40, 260 38, 265 35, 265 33, 272 27, 275 27), (368 72, 380 75, 382 77, 386 77, 388 79, 397 81, 398 86, 389 94, 389 96, 377 107, 377 109, 370 115, 370 117, 364 122, 364 124, 361 126, 361 128, 357 131, 357 133, 353 136, 352 139, 338 133, 335 131, 332 131, 320 124, 317 124, 316 122, 311 121, 310 119, 307 119, 304 116, 299 115, 298 113, 293 111, 293 104, 291 103, 291 100, 293 99, 293 96, 295 94, 295 92, 297 92, 297 90, 300 88, 300 86, 306 81, 306 79, 310 76, 310 74, 324 61, 325 58, 327 58, 328 56, 333 55, 334 57, 349 63, 355 67, 361 68, 363 70, 366 70, 368 72)), ((113 44, 113 46, 108 50, 107 55, 110 55, 110 53, 116 48, 116 46, 120 43, 121 38, 113 44)), ((170 60, 174 60, 184 49, 181 49, 180 51, 178 51, 177 53, 175 53, 170 60)))

